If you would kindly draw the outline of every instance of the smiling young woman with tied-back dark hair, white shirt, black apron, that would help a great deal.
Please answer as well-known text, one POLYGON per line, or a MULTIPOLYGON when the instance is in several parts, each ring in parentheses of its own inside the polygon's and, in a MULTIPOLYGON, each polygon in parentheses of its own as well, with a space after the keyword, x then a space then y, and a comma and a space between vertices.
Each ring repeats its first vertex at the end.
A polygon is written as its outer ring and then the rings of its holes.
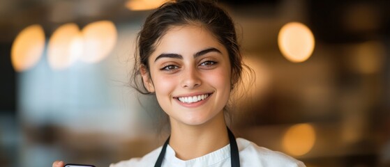
POLYGON ((142 158, 110 167, 304 166, 236 139, 227 128, 225 106, 241 81, 243 63, 232 19, 216 3, 165 3, 147 17, 137 42, 135 86, 156 95, 169 116, 170 138, 142 158))

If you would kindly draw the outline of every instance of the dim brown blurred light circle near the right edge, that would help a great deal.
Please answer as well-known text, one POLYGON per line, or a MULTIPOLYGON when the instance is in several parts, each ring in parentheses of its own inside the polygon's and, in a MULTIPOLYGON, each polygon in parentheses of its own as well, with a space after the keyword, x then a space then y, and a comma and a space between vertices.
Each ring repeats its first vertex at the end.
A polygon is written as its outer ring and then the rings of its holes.
POLYGON ((385 47, 380 42, 364 42, 354 49, 352 65, 362 74, 375 74, 382 70, 386 57, 385 47))

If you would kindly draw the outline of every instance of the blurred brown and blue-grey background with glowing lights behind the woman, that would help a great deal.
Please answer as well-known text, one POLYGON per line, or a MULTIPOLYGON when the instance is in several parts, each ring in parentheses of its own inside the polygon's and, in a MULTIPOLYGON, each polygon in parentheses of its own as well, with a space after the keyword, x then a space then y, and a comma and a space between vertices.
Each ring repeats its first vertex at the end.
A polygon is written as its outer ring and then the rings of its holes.
MULTIPOLYGON (((147 0, 0 0, 0 166, 142 157, 153 97, 128 87, 147 0)), ((390 166, 389 1, 220 0, 255 71, 236 136, 307 166, 390 166)))

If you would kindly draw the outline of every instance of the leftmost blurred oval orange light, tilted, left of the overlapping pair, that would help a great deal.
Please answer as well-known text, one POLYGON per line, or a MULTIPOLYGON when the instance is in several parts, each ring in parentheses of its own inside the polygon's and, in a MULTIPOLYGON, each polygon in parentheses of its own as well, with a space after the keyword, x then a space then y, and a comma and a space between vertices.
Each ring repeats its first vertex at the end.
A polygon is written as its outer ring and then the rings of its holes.
POLYGON ((45 49, 42 26, 33 24, 20 31, 11 49, 11 63, 17 72, 28 70, 38 63, 45 49))

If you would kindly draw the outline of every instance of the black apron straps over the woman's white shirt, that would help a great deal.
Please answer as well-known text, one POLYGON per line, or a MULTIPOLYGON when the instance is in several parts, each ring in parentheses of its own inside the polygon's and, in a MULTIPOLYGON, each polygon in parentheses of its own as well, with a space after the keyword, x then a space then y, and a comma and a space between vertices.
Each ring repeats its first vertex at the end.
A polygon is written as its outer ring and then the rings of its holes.
MULTIPOLYGON (((232 167, 239 167, 240 157, 239 157, 239 148, 237 147, 236 138, 234 137, 234 134, 230 131, 229 128, 227 128, 227 134, 229 135, 229 142, 230 142, 230 162, 232 163, 232 167)), ((163 159, 165 157, 165 152, 167 150, 168 143, 170 143, 170 137, 168 137, 167 141, 165 141, 163 145, 163 149, 161 150, 160 155, 158 155, 158 159, 154 167, 161 167, 161 164, 163 164, 163 159)))

